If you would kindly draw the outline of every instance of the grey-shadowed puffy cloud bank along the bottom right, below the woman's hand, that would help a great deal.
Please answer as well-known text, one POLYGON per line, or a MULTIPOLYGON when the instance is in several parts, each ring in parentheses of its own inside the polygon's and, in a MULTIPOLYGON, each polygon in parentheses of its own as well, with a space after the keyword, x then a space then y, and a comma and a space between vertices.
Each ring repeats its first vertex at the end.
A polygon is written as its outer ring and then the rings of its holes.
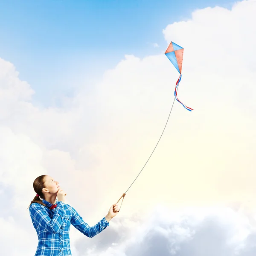
POLYGON ((89 250, 91 256, 249 256, 255 253, 253 246, 247 247, 247 244, 250 244, 256 230, 244 215, 230 208, 186 208, 177 211, 159 204, 148 212, 148 217, 133 221, 131 218, 113 220, 111 236, 102 233, 93 241, 82 238, 78 241, 76 246, 84 252, 80 255, 87 255, 89 250), (108 243, 102 244, 101 241, 108 243))

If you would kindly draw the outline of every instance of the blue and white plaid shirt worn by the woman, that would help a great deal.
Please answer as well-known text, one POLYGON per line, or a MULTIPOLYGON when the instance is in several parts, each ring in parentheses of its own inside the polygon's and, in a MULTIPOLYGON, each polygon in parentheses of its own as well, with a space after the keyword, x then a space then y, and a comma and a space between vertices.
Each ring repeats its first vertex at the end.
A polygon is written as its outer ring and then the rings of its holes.
POLYGON ((32 203, 29 206, 29 214, 38 234, 38 247, 35 256, 72 256, 70 250, 70 224, 85 236, 93 236, 105 230, 109 226, 105 217, 93 227, 84 222, 82 217, 69 204, 57 199, 57 207, 48 201, 42 200, 47 207, 32 203))

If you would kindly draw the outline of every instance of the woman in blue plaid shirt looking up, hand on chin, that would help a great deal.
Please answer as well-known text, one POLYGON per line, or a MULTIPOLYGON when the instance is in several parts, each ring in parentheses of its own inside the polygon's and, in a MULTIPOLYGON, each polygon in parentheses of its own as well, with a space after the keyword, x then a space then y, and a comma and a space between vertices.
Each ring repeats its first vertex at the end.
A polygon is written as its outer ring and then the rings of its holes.
POLYGON ((119 212, 118 204, 113 204, 108 214, 98 224, 90 227, 72 206, 64 203, 66 193, 58 181, 49 175, 41 175, 35 179, 33 187, 37 195, 28 208, 38 234, 35 256, 71 256, 70 224, 92 238, 105 230, 109 221, 119 212))

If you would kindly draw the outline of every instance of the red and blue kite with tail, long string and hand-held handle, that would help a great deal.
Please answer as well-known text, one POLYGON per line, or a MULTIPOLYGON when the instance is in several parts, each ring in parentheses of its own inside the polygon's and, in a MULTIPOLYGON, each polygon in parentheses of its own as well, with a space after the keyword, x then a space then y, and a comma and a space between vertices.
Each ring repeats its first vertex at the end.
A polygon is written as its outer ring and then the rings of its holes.
MULTIPOLYGON (((177 97, 177 90, 178 90, 178 87, 179 87, 179 84, 180 84, 180 80, 181 80, 181 69, 182 69, 182 60, 183 60, 183 50, 184 50, 183 47, 180 47, 179 45, 177 45, 177 44, 171 42, 171 43, 169 44, 169 47, 166 49, 165 55, 167 56, 167 58, 169 58, 169 60, 172 62, 172 64, 175 66, 175 68, 176 68, 176 69, 178 70, 178 72, 180 73, 179 79, 177 80, 176 86, 175 86, 175 92, 174 92, 175 99, 176 99, 178 102, 180 102, 180 104, 183 105, 183 107, 186 108, 188 111, 192 111, 192 110, 193 110, 192 108, 189 108, 189 107, 187 107, 186 105, 184 105, 184 104, 178 99, 178 97, 177 97)), ((173 100, 172 108, 173 108, 175 99, 173 100)), ((168 123, 170 114, 171 114, 171 112, 172 112, 172 108, 171 108, 171 111, 170 111, 170 113, 169 113, 169 116, 168 116, 166 125, 167 125, 167 123, 168 123)), ((165 128, 166 128, 166 125, 165 125, 165 127, 164 127, 164 129, 163 129, 163 132, 164 132, 164 130, 165 130, 165 128)), ((162 132, 162 134, 161 134, 161 136, 160 136, 160 139, 161 139, 161 137, 162 137, 162 135, 163 135, 163 132, 162 132)), ((158 145, 160 139, 158 140, 157 145, 158 145)), ((156 149, 157 145, 155 146, 154 150, 156 149)), ((152 151, 151 155, 154 153, 154 150, 152 151)), ((150 155, 150 157, 151 157, 151 155, 150 155)), ((148 160, 150 159, 150 157, 148 158, 148 160)), ((145 165, 148 163, 148 160, 147 160, 147 162, 145 163, 145 165)), ((144 169, 145 165, 144 165, 143 168, 141 169, 140 173, 141 173, 142 170, 144 169)), ((140 175, 140 173, 137 175, 137 177, 140 175)), ((136 177, 136 179, 137 179, 137 177, 136 177)), ((135 179, 135 180, 136 180, 136 179, 135 179)), ((135 181, 135 180, 134 180, 134 181, 135 181)), ((133 181, 133 183, 134 183, 134 181, 133 181)), ((131 183, 131 186, 132 186, 133 183, 131 183)), ((123 195, 120 197, 120 199, 117 201, 117 203, 121 200, 121 198, 122 198, 122 201, 124 200, 124 197, 125 197, 127 191, 130 189, 131 186, 129 186, 129 188, 126 190, 126 192, 123 193, 123 195)), ((116 203, 116 204, 117 204, 117 203, 116 203)), ((121 202, 121 206, 122 206, 122 202, 121 202)), ((120 206, 120 208, 119 208, 119 211, 120 211, 120 209, 121 209, 121 206, 120 206)))

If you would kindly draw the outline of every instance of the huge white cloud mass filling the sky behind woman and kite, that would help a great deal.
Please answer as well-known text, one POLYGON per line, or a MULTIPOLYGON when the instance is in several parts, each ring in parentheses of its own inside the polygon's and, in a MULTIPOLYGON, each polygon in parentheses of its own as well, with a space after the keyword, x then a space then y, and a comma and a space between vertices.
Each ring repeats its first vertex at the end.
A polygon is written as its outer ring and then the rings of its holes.
MULTIPOLYGON (((205 255, 202 239, 212 255, 255 254, 255 200, 245 204, 256 192, 255 10, 253 0, 232 10, 206 8, 164 29, 166 47, 170 41, 184 47, 178 96, 195 111, 175 102, 162 140, 108 230, 93 240, 71 231, 74 255, 150 256, 157 248, 161 255, 205 255), (215 202, 232 204, 233 211, 196 208, 215 202), (166 209, 144 219, 157 204, 195 210, 175 215, 166 209)), ((178 75, 164 54, 126 55, 92 94, 81 90, 63 109, 40 109, 30 102, 31 86, 0 59, 1 200, 14 202, 3 208, 1 223, 29 230, 37 242, 26 207, 35 177, 49 173, 66 189, 67 203, 96 224, 151 154, 178 75)), ((11 238, 8 233, 0 245, 7 248, 11 238)), ((32 250, 17 246, 24 255, 32 250)))

